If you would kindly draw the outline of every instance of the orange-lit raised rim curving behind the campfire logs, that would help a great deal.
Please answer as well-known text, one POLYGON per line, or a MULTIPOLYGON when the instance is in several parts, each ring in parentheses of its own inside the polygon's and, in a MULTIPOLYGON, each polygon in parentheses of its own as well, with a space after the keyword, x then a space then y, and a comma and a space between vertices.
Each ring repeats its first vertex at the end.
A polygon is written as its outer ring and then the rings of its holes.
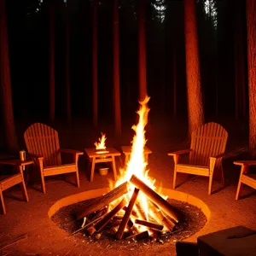
MULTIPOLYGON (((67 206, 79 203, 80 201, 86 201, 91 198, 104 195, 109 191, 110 191, 109 188, 94 189, 94 190, 88 190, 79 194, 69 195, 67 197, 61 198, 60 200, 56 201, 52 207, 49 208, 48 216, 49 218, 51 218, 55 214, 55 212, 58 212, 62 207, 67 207, 67 206)), ((168 196, 169 199, 183 201, 183 202, 189 203, 192 206, 198 207, 199 209, 201 209, 201 212, 203 212, 206 215, 207 223, 211 218, 211 212, 207 204, 204 201, 201 201, 201 199, 195 197, 194 195, 189 195, 181 191, 164 189, 164 188, 161 189, 161 194, 168 196)), ((199 230, 197 233, 199 232, 201 233, 202 230, 206 228, 207 228, 207 224, 205 224, 205 226, 201 230, 199 230)), ((195 233, 193 236, 196 236, 197 233, 195 233)))

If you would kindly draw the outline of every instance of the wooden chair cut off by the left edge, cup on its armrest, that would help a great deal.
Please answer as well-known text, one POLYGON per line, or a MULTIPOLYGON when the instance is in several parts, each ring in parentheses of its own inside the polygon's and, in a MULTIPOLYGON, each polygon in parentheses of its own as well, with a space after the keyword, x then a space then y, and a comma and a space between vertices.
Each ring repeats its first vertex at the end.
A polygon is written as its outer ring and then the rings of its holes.
POLYGON ((22 184, 22 192, 23 192, 23 196, 24 199, 26 201, 29 201, 28 195, 27 195, 27 191, 26 191, 26 184, 24 181, 24 176, 23 176, 23 168, 22 166, 28 166, 28 165, 32 165, 33 161, 32 160, 25 160, 25 161, 21 161, 21 160, 0 160, 0 165, 12 165, 12 166, 16 166, 18 169, 18 173, 15 175, 8 175, 8 177, 5 177, 2 181, 0 181, 0 199, 2 202, 2 207, 3 207, 3 214, 6 213, 6 209, 5 209, 5 205, 4 205, 4 201, 3 201, 3 190, 5 189, 9 189, 13 186, 15 186, 16 184, 21 183, 22 184))

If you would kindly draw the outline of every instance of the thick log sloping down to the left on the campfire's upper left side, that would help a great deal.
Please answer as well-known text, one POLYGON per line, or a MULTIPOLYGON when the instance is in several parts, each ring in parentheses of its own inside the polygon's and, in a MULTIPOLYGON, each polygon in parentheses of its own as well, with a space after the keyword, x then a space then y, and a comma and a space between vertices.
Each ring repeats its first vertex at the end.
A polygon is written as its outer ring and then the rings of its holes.
POLYGON ((91 201, 86 207, 79 209, 76 212, 77 219, 84 218, 92 212, 96 212, 102 207, 107 206, 110 202, 118 199, 120 196, 125 195, 128 192, 127 182, 120 184, 117 188, 111 190, 106 195, 96 197, 94 201, 91 201))

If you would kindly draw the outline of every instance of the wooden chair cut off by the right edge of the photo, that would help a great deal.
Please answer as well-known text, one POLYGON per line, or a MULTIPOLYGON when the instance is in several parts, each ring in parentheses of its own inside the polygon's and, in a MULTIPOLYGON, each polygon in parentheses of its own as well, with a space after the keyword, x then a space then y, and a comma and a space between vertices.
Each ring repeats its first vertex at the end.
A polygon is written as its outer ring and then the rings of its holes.
POLYGON ((239 182, 236 190, 236 200, 238 200, 243 184, 256 189, 256 174, 248 172, 249 166, 256 166, 256 160, 240 160, 235 161, 234 164, 241 166, 239 182))

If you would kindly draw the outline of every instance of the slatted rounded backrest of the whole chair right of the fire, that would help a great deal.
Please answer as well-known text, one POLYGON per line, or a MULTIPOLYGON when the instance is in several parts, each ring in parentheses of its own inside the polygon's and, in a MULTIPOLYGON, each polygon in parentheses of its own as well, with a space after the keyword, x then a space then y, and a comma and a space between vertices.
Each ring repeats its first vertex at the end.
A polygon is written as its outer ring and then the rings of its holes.
POLYGON ((228 132, 217 123, 201 125, 191 134, 193 149, 189 154, 189 164, 196 166, 209 166, 209 157, 222 154, 225 151, 228 132))

